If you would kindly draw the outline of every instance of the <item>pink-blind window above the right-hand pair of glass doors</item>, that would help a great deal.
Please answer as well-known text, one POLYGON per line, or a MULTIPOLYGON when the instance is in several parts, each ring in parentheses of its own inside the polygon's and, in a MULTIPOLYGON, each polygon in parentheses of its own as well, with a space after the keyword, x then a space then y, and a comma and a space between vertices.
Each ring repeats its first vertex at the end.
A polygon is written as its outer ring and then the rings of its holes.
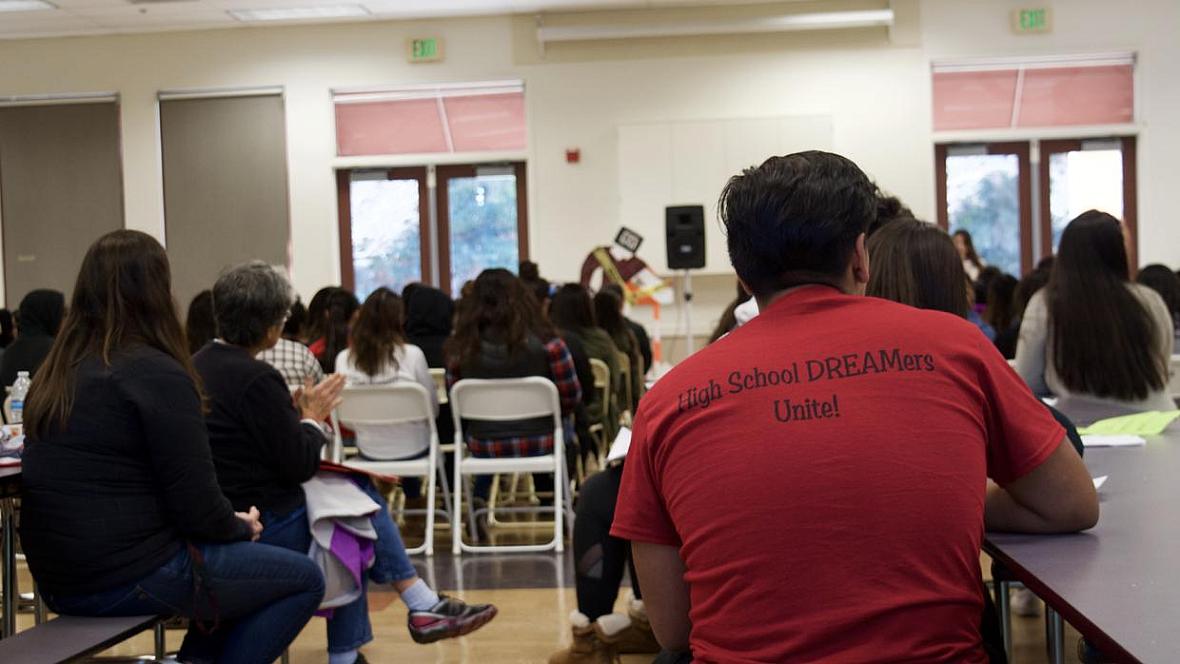
POLYGON ((1133 123, 1134 64, 933 72, 935 131, 1133 123))

